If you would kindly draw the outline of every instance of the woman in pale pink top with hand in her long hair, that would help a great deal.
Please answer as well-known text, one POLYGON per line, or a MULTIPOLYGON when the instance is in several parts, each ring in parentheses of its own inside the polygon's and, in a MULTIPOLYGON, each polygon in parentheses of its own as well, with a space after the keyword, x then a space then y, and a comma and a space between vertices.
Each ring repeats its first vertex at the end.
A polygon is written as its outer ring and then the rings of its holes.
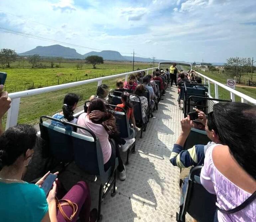
MULTIPOLYGON (((120 157, 119 149, 109 141, 109 135, 116 134, 116 123, 112 114, 106 112, 106 106, 104 102, 99 99, 93 99, 90 102, 87 113, 82 113, 78 117, 77 124, 90 129, 95 136, 99 139, 99 143, 103 154, 104 169, 107 170, 115 163, 115 158, 118 158, 118 171, 120 180, 125 180, 126 171, 120 157), (90 114, 93 111, 101 111, 103 116, 99 119, 91 119, 90 114)), ((82 129, 77 129, 77 133, 87 135, 87 132, 82 129)))

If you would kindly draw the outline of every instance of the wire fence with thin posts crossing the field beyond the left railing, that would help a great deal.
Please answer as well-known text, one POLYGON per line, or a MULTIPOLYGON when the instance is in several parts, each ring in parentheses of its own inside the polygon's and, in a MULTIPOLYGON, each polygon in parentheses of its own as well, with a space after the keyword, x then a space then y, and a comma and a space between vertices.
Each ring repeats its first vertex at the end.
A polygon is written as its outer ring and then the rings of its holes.
POLYGON ((26 82, 24 84, 19 84, 19 85, 10 85, 8 86, 5 85, 5 90, 8 91, 8 93, 11 92, 19 92, 23 90, 30 90, 30 89, 36 89, 36 88, 42 88, 42 87, 47 87, 47 86, 53 86, 53 85, 60 85, 64 83, 69 83, 69 82, 77 82, 77 81, 82 81, 82 80, 87 80, 87 79, 93 79, 93 78, 98 78, 98 77, 104 77, 108 75, 114 75, 114 74, 120 74, 124 72, 130 72, 132 70, 122 70, 118 72, 107 72, 104 74, 83 74, 83 75, 76 75, 76 76, 65 76, 65 77, 57 77, 55 79, 45 79, 42 81, 31 81, 31 82, 26 82))

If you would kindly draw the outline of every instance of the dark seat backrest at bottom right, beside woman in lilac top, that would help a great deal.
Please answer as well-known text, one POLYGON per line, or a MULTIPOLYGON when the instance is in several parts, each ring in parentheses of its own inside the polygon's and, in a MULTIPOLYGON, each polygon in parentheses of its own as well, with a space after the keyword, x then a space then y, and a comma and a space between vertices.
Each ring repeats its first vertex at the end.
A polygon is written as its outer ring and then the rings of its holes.
POLYGON ((213 222, 217 198, 200 183, 201 168, 202 166, 197 166, 190 170, 184 208, 197 221, 213 222))

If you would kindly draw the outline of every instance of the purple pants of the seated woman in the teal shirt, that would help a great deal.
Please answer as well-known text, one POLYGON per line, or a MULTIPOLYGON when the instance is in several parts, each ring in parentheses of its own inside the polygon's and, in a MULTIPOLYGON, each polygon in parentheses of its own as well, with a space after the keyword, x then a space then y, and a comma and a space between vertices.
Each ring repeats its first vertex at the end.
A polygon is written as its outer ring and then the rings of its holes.
MULTIPOLYGON (((76 183, 62 199, 70 200, 77 204, 77 213, 72 221, 76 221, 79 215, 81 222, 88 222, 90 216, 91 207, 91 196, 89 186, 84 181, 79 181, 76 183)), ((66 215, 70 218, 73 210, 70 206, 62 207, 66 215)), ((57 209, 57 220, 58 222, 66 222, 61 212, 57 209)))

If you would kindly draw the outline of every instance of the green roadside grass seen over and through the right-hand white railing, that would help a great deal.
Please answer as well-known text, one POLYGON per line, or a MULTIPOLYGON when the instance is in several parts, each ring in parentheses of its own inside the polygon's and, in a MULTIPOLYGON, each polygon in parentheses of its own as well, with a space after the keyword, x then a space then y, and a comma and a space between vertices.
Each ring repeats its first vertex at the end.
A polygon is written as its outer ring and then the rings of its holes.
MULTIPOLYGON (((216 72, 203 72, 201 70, 198 70, 198 72, 202 73, 203 75, 206 75, 218 82, 221 82, 223 83, 224 85, 226 85, 227 83, 227 77, 222 77, 222 76, 219 76, 216 72)), ((247 87, 239 87, 239 86, 236 86, 235 88, 237 91, 241 92, 241 93, 244 93, 254 99, 256 99, 256 87, 254 88, 247 88, 247 87)), ((212 97, 215 97, 215 93, 214 93, 214 84, 211 84, 210 86, 210 90, 211 90, 211 96, 212 97)), ((221 88, 221 87, 218 87, 218 92, 219 92, 219 98, 220 99, 230 99, 230 93, 221 88)), ((240 97, 238 96, 235 96, 235 100, 236 101, 241 101, 240 97)))

